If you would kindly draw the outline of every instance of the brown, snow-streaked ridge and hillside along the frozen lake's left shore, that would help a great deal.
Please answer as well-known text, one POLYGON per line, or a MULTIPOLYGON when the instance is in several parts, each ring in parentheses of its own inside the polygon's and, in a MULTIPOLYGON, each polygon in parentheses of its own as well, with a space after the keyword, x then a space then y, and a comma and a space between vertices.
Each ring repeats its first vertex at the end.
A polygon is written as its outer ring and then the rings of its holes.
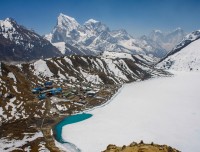
POLYGON ((64 117, 104 104, 124 83, 170 75, 150 63, 142 55, 114 52, 99 57, 72 55, 17 65, 1 63, 2 150, 17 147, 23 151, 42 143, 50 151, 59 151, 51 132, 64 117), (62 93, 40 100, 31 91, 47 81, 52 82, 53 88, 62 88, 62 93), (88 96, 89 91, 95 94, 88 96), (34 139, 35 134, 39 138, 34 139), (24 142, 11 145, 21 139, 24 142))

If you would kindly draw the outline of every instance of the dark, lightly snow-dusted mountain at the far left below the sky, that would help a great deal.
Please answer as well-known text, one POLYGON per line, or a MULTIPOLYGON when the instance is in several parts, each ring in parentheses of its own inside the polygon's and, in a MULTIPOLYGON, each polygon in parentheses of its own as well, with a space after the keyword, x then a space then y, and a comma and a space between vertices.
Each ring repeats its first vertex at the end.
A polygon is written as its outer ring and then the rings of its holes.
POLYGON ((0 20, 0 61, 30 61, 59 55, 49 41, 14 19, 0 20))

